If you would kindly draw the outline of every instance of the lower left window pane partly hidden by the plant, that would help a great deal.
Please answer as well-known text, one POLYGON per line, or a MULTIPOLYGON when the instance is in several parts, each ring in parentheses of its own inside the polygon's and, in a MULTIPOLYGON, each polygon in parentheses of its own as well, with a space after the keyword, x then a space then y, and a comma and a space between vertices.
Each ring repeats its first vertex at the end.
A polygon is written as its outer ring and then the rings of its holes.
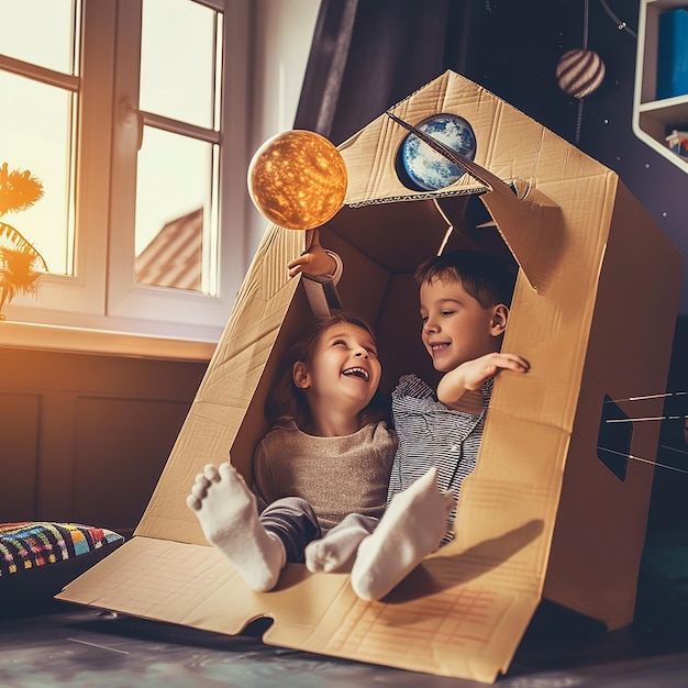
POLYGON ((69 199, 71 99, 69 91, 0 71, 0 166, 31 170, 43 184, 43 198, 31 208, 7 213, 54 274, 73 269, 69 199))

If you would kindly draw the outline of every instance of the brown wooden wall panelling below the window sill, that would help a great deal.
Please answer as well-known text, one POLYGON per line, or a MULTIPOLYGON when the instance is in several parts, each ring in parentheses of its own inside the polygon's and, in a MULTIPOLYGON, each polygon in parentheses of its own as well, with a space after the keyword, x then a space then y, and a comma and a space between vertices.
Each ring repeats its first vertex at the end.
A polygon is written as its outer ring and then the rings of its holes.
POLYGON ((131 534, 207 366, 0 347, 0 522, 131 534))

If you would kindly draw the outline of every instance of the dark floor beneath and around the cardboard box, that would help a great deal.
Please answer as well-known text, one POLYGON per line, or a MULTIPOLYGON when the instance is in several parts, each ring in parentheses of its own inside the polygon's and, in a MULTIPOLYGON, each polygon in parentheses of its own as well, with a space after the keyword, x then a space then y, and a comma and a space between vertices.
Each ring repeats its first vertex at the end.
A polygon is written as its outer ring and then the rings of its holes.
MULTIPOLYGON (((54 601, 0 619, 2 688, 467 688, 484 686, 270 647, 259 626, 225 636, 54 601)), ((501 688, 688 686, 688 634, 624 629, 544 610, 501 688)))

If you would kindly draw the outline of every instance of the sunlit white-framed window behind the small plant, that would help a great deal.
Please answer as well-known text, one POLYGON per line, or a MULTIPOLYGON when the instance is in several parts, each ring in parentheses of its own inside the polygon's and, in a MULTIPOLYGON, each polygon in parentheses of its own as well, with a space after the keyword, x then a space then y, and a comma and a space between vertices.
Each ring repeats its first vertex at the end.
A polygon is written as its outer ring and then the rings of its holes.
POLYGON ((11 320, 217 341, 245 273, 247 0, 0 0, 0 165, 48 266, 11 320))

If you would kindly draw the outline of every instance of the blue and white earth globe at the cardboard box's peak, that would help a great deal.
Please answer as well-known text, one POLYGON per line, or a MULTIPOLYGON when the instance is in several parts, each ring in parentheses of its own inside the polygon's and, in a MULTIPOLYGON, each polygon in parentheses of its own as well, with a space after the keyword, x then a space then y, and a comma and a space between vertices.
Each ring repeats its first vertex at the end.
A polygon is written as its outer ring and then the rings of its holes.
MULTIPOLYGON (((476 136, 470 124, 456 114, 433 114, 415 129, 440 141, 445 146, 473 160, 476 155, 476 136)), ((441 153, 431 148, 415 134, 409 134, 399 148, 398 171, 401 182, 419 191, 444 189, 463 175, 464 170, 441 153), (406 177, 406 179, 403 178, 406 177)))

